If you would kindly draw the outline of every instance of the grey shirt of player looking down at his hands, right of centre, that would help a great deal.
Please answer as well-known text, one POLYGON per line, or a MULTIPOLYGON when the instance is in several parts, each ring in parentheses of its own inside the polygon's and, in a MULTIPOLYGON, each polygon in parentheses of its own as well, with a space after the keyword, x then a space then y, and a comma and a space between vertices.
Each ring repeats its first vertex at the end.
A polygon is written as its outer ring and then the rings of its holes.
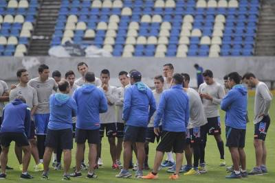
POLYGON ((210 95, 213 100, 202 99, 203 109, 206 113, 207 118, 219 117, 219 104, 221 104, 221 99, 225 96, 223 86, 221 84, 214 82, 211 85, 203 83, 199 86, 199 93, 210 95))

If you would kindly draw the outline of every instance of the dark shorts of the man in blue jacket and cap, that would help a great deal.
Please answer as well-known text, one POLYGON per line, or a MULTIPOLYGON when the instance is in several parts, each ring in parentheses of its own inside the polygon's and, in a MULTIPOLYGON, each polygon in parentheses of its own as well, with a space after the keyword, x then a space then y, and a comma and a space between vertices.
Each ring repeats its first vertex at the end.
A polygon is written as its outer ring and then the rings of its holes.
POLYGON ((147 127, 137 127, 126 125, 124 127, 123 141, 131 141, 132 143, 145 143, 147 127))

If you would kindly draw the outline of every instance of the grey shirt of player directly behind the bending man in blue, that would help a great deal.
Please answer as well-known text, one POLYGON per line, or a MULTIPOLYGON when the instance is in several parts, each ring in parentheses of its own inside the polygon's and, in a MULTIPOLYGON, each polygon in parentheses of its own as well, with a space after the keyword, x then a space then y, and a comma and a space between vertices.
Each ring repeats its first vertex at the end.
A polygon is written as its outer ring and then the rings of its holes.
POLYGON ((26 104, 33 108, 39 104, 39 100, 37 98, 37 92, 32 86, 21 86, 17 84, 17 88, 14 88, 10 91, 10 101, 14 100, 16 97, 22 96, 26 100, 26 104))

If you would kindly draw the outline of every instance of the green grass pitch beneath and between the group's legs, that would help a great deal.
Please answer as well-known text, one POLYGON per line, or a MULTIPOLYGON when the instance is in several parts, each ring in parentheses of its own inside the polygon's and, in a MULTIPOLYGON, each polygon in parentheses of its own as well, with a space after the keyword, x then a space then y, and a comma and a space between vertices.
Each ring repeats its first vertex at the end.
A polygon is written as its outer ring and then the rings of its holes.
MULTIPOLYGON (((249 98, 249 105, 248 105, 248 112, 249 112, 249 118, 250 123, 248 123, 248 130, 246 134, 246 146, 245 146, 245 152, 246 152, 246 160, 247 160, 247 167, 248 171, 254 167, 255 164, 255 156, 254 156, 254 147, 253 147, 253 134, 254 134, 254 125, 252 123, 253 119, 253 107, 254 107, 254 99, 253 97, 249 98)), ((275 102, 272 102, 272 106, 270 109, 270 117, 272 120, 275 119, 275 102)), ((221 112, 221 119, 224 119, 224 112, 221 112)), ((224 120, 222 120, 224 122, 224 120)), ((272 121, 273 122, 273 121, 272 121)), ((222 137, 223 141, 225 141, 225 127, 223 123, 222 128, 222 137)), ((225 175, 228 175, 225 171, 225 167, 219 167, 219 151, 217 149, 217 145, 214 141, 214 137, 208 136, 208 143, 206 146, 206 163, 207 163, 207 169, 208 173, 203 175, 191 175, 191 176, 184 176, 181 175, 179 180, 176 180, 176 182, 274 182, 275 178, 275 147, 274 147, 274 141, 275 141, 275 127, 273 123, 270 125, 270 129, 268 131, 267 136, 267 168, 269 170, 269 173, 263 175, 263 176, 250 176, 249 178, 243 178, 241 180, 225 180, 225 175)), ((150 167, 153 167, 153 159, 155 156, 155 146, 156 144, 153 144, 150 146, 150 155, 149 155, 149 165, 150 167)), ((14 167, 13 171, 8 171, 7 179, 6 180, 0 180, 0 182, 44 182, 41 180, 41 172, 36 173, 33 171, 32 167, 34 166, 34 160, 31 160, 30 163, 30 174, 34 176, 33 180, 20 180, 19 176, 21 172, 19 171, 19 164, 17 162, 17 158, 14 155, 13 151, 14 144, 10 147, 10 154, 9 154, 9 160, 8 165, 11 167, 14 167)), ((87 152, 85 154, 86 158, 85 161, 87 161, 87 152)), ((153 180, 137 180, 135 178, 131 179, 118 179, 115 178, 115 175, 119 171, 113 171, 111 169, 111 156, 109 154, 109 144, 107 142, 107 138, 104 138, 103 144, 102 144, 102 160, 104 162, 104 166, 100 167, 96 171, 96 174, 98 175, 98 179, 96 180, 87 180, 85 176, 87 175, 87 171, 83 171, 83 178, 72 178, 72 182, 104 182, 104 183, 114 183, 114 182, 152 182, 153 180)), ((227 162, 227 165, 231 165, 231 158, 230 153, 227 148, 225 148, 225 160, 227 162)), ((184 160, 184 162, 186 162, 184 160)), ((75 164, 75 149, 72 154, 72 166, 75 164)), ((51 167, 52 168, 52 167, 51 167)), ((144 174, 148 173, 148 171, 144 171, 144 174)), ((61 180, 63 175, 63 171, 54 171, 54 169, 50 170, 50 180, 47 180, 45 182, 63 182, 61 180)), ((133 172, 134 175, 134 172, 133 172)), ((162 170, 159 172, 159 180, 155 180, 157 182, 168 182, 168 176, 170 174, 166 173, 165 170, 162 170)))

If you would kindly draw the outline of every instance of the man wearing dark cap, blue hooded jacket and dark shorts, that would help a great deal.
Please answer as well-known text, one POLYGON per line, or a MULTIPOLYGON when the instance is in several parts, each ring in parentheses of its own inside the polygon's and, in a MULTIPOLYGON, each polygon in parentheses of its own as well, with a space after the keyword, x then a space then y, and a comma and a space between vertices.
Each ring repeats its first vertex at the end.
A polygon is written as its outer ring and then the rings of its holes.
POLYGON ((129 164, 132 158, 132 145, 137 147, 138 169, 135 172, 136 178, 143 175, 144 166, 144 143, 148 121, 155 112, 155 99, 152 90, 142 82, 142 75, 139 71, 133 71, 130 75, 131 86, 126 88, 124 95, 123 119, 126 121, 124 130, 124 164, 123 169, 117 178, 130 178, 129 164))

